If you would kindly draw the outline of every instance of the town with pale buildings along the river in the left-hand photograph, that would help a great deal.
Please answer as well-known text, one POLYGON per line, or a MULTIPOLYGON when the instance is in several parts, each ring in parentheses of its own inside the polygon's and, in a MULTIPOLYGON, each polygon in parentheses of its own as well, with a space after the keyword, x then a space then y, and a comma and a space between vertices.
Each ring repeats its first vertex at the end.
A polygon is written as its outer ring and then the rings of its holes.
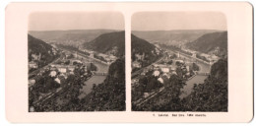
POLYGON ((96 84, 103 82, 109 65, 117 59, 110 53, 103 54, 88 49, 79 50, 54 43, 51 46, 55 56, 52 62, 41 65, 40 53, 32 54, 32 61, 29 62, 29 110, 31 112, 52 109, 50 104, 45 103, 51 98, 56 98, 55 100, 60 104, 65 103, 65 98, 58 95, 68 94, 70 90, 68 88, 71 87, 69 80, 78 75, 83 85, 77 97, 82 99, 91 93, 96 84))

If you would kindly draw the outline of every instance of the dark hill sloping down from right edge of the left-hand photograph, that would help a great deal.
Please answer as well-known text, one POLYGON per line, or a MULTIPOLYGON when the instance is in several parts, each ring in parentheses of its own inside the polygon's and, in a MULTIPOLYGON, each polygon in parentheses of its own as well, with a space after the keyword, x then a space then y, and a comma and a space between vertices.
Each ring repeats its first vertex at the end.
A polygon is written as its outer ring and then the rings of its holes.
POLYGON ((108 32, 97 36, 83 44, 84 48, 100 53, 110 53, 117 57, 125 55, 125 32, 108 32))

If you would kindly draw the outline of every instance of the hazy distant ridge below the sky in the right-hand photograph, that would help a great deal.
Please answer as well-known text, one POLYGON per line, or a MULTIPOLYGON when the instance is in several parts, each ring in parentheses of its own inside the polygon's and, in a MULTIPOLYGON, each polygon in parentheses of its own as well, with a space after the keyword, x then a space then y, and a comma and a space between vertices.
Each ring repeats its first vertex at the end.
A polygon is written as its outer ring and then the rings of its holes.
POLYGON ((133 31, 136 36, 151 43, 178 45, 191 42, 205 33, 220 32, 216 30, 173 30, 173 31, 133 31))

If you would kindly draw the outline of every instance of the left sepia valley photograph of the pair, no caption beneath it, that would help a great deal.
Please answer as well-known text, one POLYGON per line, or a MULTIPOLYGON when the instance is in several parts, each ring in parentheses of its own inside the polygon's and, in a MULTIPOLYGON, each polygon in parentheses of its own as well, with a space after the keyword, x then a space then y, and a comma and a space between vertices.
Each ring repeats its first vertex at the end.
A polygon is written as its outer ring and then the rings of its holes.
POLYGON ((29 111, 124 111, 125 32, 117 12, 29 18, 29 111))

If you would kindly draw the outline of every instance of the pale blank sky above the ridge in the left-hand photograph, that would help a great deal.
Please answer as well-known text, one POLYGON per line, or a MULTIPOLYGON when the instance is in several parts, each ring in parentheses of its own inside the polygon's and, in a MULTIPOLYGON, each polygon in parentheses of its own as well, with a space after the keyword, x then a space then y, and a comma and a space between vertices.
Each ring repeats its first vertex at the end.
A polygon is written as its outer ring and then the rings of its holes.
POLYGON ((29 17, 29 31, 124 30, 118 12, 36 12, 29 17))

